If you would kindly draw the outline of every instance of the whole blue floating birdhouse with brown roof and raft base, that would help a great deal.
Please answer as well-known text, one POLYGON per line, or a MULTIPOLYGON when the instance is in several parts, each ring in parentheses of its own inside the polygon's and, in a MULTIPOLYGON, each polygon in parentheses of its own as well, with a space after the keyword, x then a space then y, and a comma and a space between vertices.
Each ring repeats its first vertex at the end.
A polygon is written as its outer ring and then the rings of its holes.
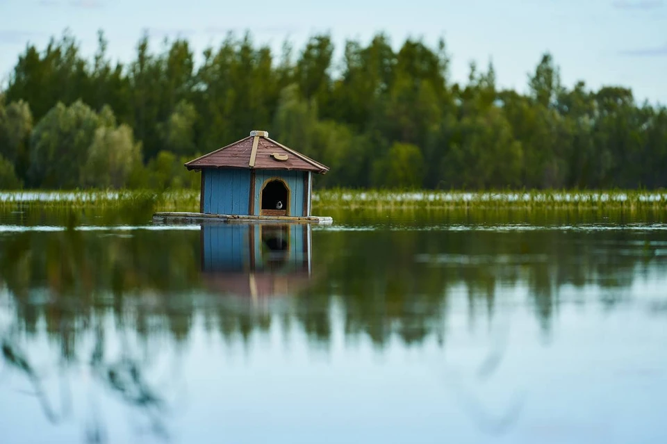
POLYGON ((185 166, 201 171, 199 213, 156 217, 331 222, 330 217, 311 216, 313 174, 329 168, 270 139, 267 131, 251 131, 185 166))

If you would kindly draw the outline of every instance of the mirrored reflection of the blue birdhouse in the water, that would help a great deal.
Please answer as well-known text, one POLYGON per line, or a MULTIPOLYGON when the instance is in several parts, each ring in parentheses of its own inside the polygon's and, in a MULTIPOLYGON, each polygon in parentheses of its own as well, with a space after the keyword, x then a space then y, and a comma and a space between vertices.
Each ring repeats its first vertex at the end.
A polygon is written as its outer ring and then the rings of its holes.
POLYGON ((294 295, 311 277, 311 226, 204 224, 201 269, 206 286, 216 293, 294 295))

